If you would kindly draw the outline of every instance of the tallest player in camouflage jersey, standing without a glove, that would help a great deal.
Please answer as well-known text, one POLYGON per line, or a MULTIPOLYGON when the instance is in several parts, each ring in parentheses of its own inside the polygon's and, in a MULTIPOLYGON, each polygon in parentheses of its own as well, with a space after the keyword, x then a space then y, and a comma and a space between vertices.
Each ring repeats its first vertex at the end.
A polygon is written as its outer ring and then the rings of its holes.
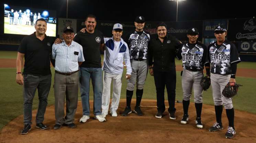
POLYGON ((145 18, 143 16, 137 16, 134 21, 135 30, 129 32, 124 37, 124 41, 128 44, 130 49, 132 74, 129 80, 127 80, 126 88, 126 108, 122 113, 122 116, 127 116, 132 113, 131 100, 133 95, 134 86, 136 83, 136 106, 134 112, 142 116, 143 113, 140 108, 141 98, 143 95, 143 85, 145 83, 148 72, 148 43, 150 41, 150 34, 143 30, 145 26, 145 18), (137 81, 136 81, 137 80, 137 81))

